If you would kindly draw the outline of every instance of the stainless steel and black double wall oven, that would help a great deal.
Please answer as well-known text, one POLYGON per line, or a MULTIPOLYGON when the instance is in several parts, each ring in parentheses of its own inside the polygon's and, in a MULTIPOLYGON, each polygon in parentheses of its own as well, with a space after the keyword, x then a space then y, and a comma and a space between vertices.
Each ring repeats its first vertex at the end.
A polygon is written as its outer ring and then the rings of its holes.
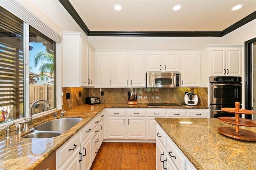
POLYGON ((242 78, 210 76, 210 117, 235 116, 221 110, 235 107, 235 102, 242 104, 242 78))

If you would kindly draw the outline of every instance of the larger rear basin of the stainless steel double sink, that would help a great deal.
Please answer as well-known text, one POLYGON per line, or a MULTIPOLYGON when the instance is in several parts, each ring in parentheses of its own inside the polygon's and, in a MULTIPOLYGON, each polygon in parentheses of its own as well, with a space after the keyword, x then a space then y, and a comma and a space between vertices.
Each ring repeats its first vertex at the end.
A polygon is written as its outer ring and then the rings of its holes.
POLYGON ((36 127, 34 127, 34 129, 36 129, 37 131, 54 131, 64 133, 82 120, 82 118, 75 117, 53 119, 37 125, 36 127))

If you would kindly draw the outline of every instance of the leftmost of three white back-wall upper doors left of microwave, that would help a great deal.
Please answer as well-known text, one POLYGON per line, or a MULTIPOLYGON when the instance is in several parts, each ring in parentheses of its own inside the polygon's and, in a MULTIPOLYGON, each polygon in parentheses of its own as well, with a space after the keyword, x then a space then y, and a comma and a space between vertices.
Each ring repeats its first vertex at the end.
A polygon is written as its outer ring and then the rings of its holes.
POLYGON ((111 53, 97 53, 96 57, 97 87, 112 87, 111 53))

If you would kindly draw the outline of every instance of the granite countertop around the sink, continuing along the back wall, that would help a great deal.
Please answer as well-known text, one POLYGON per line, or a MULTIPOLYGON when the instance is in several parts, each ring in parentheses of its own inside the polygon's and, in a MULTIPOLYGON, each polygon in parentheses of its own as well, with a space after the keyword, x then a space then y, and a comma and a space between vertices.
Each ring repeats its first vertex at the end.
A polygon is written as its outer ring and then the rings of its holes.
MULTIPOLYGON (((11 138, 4 139, 4 130, 0 133, 0 169, 15 170, 15 169, 34 169, 41 162, 43 162, 50 154, 54 153, 60 146, 62 146, 68 139, 75 135, 84 125, 86 125, 95 115, 97 115, 104 108, 149 108, 146 104, 127 105, 127 104, 97 104, 75 107, 68 110, 64 117, 81 117, 84 118, 81 122, 66 131, 64 134, 46 139, 30 139, 22 138, 22 136, 29 132, 16 135, 15 126, 12 126, 11 138), (13 131, 14 130, 14 131, 13 131)), ((150 108, 201 108, 201 106, 180 106, 180 107, 150 107, 150 108)), ((206 108, 206 107, 203 107, 206 108)), ((207 107, 208 108, 208 107, 207 107)), ((55 110, 56 111, 56 110, 55 110)), ((58 119, 60 117, 60 110, 58 116, 53 117, 53 112, 39 118, 33 118, 30 128, 35 127, 43 122, 51 119, 58 119)), ((33 129, 33 128, 32 128, 33 129)), ((31 129, 31 130, 32 130, 31 129)), ((30 130, 30 131, 31 131, 30 130)))

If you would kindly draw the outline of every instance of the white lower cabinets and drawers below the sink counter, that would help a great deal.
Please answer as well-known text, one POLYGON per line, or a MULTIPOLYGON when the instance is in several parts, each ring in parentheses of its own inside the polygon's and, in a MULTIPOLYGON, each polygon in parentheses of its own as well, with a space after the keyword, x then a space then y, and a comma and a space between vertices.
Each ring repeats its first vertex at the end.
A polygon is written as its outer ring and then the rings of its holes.
POLYGON ((57 170, 90 169, 100 148, 100 132, 103 131, 103 126, 100 126, 99 120, 104 121, 102 113, 88 122, 56 151, 57 170))

